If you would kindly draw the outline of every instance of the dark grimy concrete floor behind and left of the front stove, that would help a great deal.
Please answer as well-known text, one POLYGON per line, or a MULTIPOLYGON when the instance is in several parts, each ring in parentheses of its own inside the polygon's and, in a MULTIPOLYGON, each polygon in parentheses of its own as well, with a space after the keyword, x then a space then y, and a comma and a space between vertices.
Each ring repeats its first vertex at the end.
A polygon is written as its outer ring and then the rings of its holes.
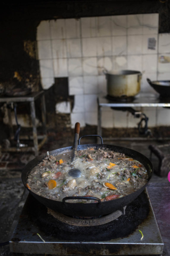
MULTIPOLYGON (((91 140, 87 140, 86 142, 82 141, 83 143, 92 143, 91 140)), ((104 141, 105 142, 105 141, 104 141)), ((109 145, 117 145, 117 146, 123 146, 127 148, 131 148, 134 150, 139 151, 141 154, 147 156, 149 158, 149 149, 148 146, 150 145, 150 142, 148 141, 107 141, 105 142, 109 145)), ((167 141, 166 141, 167 143, 167 141)), ((154 145, 163 144, 163 142, 152 142, 154 145)), ((48 142, 44 145, 43 149, 41 149, 41 153, 44 153, 46 151, 50 151, 56 148, 71 146, 72 140, 65 139, 62 140, 51 140, 49 139, 48 142)), ((168 149, 165 148, 164 152, 168 154, 168 149)), ((11 154, 10 154, 11 155, 11 154)), ((30 161, 30 159, 33 158, 32 154, 19 154, 17 156, 18 158, 25 159, 24 164, 30 161)), ((16 154, 15 154, 15 160, 16 160, 16 154)), ((11 158, 12 159, 12 155, 11 158)), ((2 161, 3 162, 3 161, 2 161)), ((157 168, 157 158, 152 158, 152 164, 154 165, 154 168, 157 168)), ((0 162, 1 166, 1 162, 0 162)), ((16 167, 16 166, 15 166, 16 167)), ((23 167, 23 164, 22 164, 23 167)), ((11 235, 13 233, 14 227, 16 225, 16 222, 19 218, 20 212, 22 210, 22 207, 24 205, 25 199, 27 198, 28 192, 24 189, 21 181, 21 168, 20 169, 0 169, 0 243, 9 241, 11 238, 11 235)), ((164 182, 169 183, 167 180, 167 177, 160 178, 157 175, 153 175, 151 182, 164 182)), ((12 255, 9 251, 8 245, 0 247, 0 256, 4 255, 12 255)))

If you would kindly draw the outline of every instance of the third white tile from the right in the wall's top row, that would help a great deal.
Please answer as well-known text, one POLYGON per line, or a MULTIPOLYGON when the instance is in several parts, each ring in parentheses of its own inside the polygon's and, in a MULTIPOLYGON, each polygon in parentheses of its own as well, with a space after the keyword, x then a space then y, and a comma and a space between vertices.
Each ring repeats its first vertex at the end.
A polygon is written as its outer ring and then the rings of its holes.
POLYGON ((112 16, 111 28, 112 28, 113 36, 126 35, 127 16, 126 15, 112 16))

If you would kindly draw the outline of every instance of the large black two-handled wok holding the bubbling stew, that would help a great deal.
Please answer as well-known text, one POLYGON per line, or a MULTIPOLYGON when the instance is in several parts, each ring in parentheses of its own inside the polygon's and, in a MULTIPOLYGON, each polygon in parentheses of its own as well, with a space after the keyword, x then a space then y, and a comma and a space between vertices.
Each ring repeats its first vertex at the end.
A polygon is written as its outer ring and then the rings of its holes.
MULTIPOLYGON (((87 136, 100 137, 99 135, 84 135, 82 137, 87 137, 87 136)), ((92 147, 92 148, 96 147, 97 149, 98 148, 104 148, 104 149, 108 148, 112 151, 124 153, 125 155, 128 155, 128 156, 132 157, 133 159, 136 159, 137 161, 142 163, 146 167, 148 175, 149 175, 148 182, 151 179, 152 174, 153 174, 153 166, 146 156, 143 156, 142 154, 138 153, 137 151, 134 151, 129 148, 112 146, 112 145, 104 145, 103 139, 101 137, 100 137, 101 138, 100 145, 94 145, 94 144, 80 145, 80 140, 82 137, 80 137, 80 139, 79 139, 78 150, 86 149, 89 147, 92 147)), ((72 147, 56 149, 56 150, 50 151, 49 154, 56 156, 58 154, 61 154, 65 150, 72 150, 72 147)), ((22 182, 23 182, 25 188, 28 189, 28 187, 27 187, 28 174, 33 169, 33 167, 35 167, 39 162, 41 162, 42 159, 46 156, 47 156, 47 154, 38 156, 35 159, 33 159, 32 161, 30 161, 24 167, 24 169, 22 171, 22 182)), ((65 198, 63 198, 63 202, 59 202, 59 201, 45 198, 43 196, 39 196, 39 195, 33 193, 30 189, 28 189, 28 191, 40 203, 44 204, 45 206, 47 206, 48 208, 50 208, 54 211, 62 212, 65 215, 87 216, 88 217, 88 216, 99 216, 99 215, 109 214, 118 209, 122 209, 123 206, 131 203, 136 197, 138 197, 142 193, 142 191, 147 186, 148 182, 146 183, 145 186, 143 186, 142 188, 140 188, 139 190, 133 192, 132 194, 130 194, 128 196, 124 196, 124 197, 114 199, 112 201, 106 201, 106 202, 101 202, 100 199, 96 198, 96 197, 65 197, 65 198), (85 204, 69 203, 69 199, 72 199, 72 198, 76 198, 76 199, 80 198, 80 199, 87 199, 87 200, 94 198, 94 203, 85 203, 85 204), (95 203, 96 200, 98 201, 97 203, 95 203)))

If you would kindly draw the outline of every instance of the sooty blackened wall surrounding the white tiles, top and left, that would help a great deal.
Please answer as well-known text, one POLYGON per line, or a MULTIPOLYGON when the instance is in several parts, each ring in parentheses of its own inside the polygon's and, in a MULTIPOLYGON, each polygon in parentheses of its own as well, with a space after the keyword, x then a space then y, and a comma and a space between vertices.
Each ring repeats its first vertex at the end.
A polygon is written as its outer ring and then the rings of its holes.
MULTIPOLYGON (((79 18, 105 15, 159 13, 159 33, 170 32, 170 2, 160 1, 29 1, 1 5, 0 85, 23 85, 33 91, 42 89, 37 60, 36 28, 41 20, 79 18)), ((69 116, 58 116, 55 105, 69 97, 67 79, 55 79, 46 90, 47 122, 49 127, 69 126, 69 116)), ((23 109, 22 109, 23 111, 23 109)))

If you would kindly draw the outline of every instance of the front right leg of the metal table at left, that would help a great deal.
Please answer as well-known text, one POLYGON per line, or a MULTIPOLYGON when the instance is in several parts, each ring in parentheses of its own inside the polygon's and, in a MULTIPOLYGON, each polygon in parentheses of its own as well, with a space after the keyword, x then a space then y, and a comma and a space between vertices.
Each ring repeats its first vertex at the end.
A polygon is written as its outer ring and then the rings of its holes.
POLYGON ((35 147, 35 155, 38 156, 38 136, 37 136, 37 127, 36 127, 36 109, 35 102, 30 102, 31 109, 31 119, 32 119, 32 132, 33 132, 33 144, 35 147))

